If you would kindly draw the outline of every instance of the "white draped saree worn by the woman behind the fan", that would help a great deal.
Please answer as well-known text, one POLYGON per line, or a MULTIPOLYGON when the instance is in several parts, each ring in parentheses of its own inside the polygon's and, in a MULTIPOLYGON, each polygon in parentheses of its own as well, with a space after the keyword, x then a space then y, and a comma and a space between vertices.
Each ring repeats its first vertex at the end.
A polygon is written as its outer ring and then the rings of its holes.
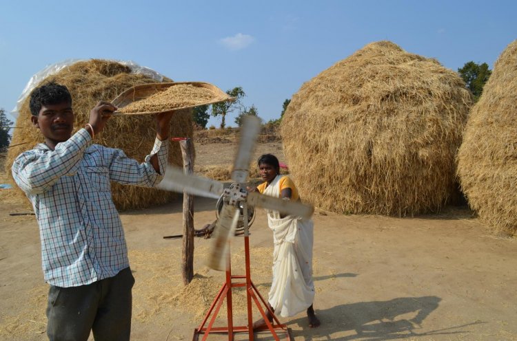
MULTIPOLYGON (((277 175, 265 189, 265 195, 280 197, 277 175)), ((270 229, 273 231, 273 281, 269 303, 275 314, 293 316, 304 311, 314 301, 312 281, 312 220, 287 216, 281 218, 278 211, 266 210, 270 229)))

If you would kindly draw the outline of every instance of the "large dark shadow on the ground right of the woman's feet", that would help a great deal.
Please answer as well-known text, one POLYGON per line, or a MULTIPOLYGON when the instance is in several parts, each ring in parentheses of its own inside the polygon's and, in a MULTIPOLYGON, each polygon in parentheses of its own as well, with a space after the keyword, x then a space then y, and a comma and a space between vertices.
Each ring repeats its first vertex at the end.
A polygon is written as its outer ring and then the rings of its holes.
MULTIPOLYGON (((318 328, 309 328, 307 318, 298 318, 287 323, 287 327, 298 325, 301 330, 292 331, 292 336, 305 340, 324 338, 326 340, 394 340, 398 338, 416 338, 439 334, 465 333, 460 325, 440 330, 419 331, 423 321, 438 308, 441 298, 437 296, 403 297, 387 301, 372 301, 338 305, 330 309, 316 309, 321 320, 318 328), (343 331, 354 331, 352 335, 343 335, 343 331)), ((482 322, 474 322, 473 325, 482 322)), ((349 334, 349 333, 347 333, 349 334)))

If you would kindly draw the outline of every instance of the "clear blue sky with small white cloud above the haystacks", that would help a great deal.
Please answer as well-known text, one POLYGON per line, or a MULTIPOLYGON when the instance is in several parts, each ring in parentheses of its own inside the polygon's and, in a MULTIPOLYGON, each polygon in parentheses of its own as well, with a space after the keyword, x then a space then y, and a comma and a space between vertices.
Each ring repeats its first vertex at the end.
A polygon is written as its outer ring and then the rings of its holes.
POLYGON ((517 1, 1 0, 0 108, 11 111, 46 65, 106 58, 176 81, 241 86, 243 103, 267 121, 304 82, 373 41, 454 70, 493 67, 517 39, 516 13, 517 1))

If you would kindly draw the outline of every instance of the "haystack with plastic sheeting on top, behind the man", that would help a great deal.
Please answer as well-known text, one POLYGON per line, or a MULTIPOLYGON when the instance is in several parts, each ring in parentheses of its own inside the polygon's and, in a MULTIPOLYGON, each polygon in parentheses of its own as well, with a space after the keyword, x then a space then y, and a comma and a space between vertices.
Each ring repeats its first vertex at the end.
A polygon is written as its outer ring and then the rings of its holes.
MULTIPOLYGON (((43 82, 54 80, 66 85, 72 94, 75 113, 75 130, 81 129, 88 123, 90 109, 99 100, 112 100, 122 91, 134 85, 156 83, 156 80, 143 74, 131 72, 130 67, 114 61, 92 59, 80 61, 61 69, 53 76, 48 76, 43 82)), ((165 78, 164 81, 172 81, 165 78)), ((36 144, 43 142, 43 135, 30 122, 29 98, 21 104, 19 117, 14 130, 9 149, 6 171, 14 159, 36 144), (17 144, 20 144, 16 146, 17 144)), ((192 121, 189 110, 178 111, 171 120, 171 136, 192 137, 192 121)), ((101 134, 95 136, 94 143, 112 148, 121 148, 126 155, 143 162, 145 155, 152 150, 156 137, 156 122, 154 115, 133 115, 111 118, 101 134)), ((178 144, 170 144, 169 162, 181 166, 181 151, 178 144)), ((19 190, 20 195, 23 195, 19 190)), ((172 192, 153 188, 122 186, 112 184, 114 203, 119 210, 145 208, 154 204, 165 203, 175 197, 172 192)))

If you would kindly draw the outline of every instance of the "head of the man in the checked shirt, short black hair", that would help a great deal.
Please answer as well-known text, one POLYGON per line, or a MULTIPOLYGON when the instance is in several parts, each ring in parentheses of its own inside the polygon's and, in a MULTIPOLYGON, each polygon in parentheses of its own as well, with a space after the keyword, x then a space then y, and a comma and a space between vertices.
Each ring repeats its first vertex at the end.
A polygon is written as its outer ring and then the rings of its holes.
POLYGON ((32 90, 30 113, 32 124, 45 136, 45 142, 51 148, 59 142, 65 142, 72 135, 72 96, 64 85, 50 82, 32 90))

